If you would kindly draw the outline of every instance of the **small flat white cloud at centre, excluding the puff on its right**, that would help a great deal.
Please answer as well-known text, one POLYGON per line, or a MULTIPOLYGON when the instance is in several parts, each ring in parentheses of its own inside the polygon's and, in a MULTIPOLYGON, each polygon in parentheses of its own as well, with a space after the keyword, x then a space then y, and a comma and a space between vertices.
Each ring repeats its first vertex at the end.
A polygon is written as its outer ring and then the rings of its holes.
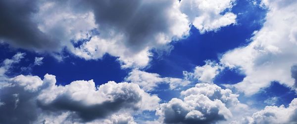
POLYGON ((161 78, 159 74, 148 73, 140 70, 133 70, 129 73, 125 80, 128 82, 137 83, 145 91, 154 90, 154 88, 157 87, 160 83, 168 83, 170 89, 175 89, 180 86, 186 86, 191 83, 187 79, 170 77, 161 78))

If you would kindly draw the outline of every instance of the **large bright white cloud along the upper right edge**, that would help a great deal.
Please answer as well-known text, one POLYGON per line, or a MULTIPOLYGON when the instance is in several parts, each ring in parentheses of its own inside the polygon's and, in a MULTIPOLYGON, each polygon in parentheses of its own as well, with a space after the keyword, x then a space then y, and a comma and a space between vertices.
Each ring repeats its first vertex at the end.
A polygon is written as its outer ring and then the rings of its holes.
POLYGON ((267 7, 263 27, 254 34, 247 46, 225 53, 221 62, 229 68, 239 68, 246 77, 234 85, 246 95, 277 81, 292 89, 295 87, 297 43, 297 1, 263 0, 267 7))

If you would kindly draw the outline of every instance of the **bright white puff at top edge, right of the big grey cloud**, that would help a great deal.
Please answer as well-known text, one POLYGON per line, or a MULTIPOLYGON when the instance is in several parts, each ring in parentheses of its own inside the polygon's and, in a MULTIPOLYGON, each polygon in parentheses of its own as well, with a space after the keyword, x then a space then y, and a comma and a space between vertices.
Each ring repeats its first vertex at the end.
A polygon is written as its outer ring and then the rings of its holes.
POLYGON ((181 0, 181 11, 201 32, 217 30, 236 23, 236 15, 222 12, 232 8, 235 0, 181 0))

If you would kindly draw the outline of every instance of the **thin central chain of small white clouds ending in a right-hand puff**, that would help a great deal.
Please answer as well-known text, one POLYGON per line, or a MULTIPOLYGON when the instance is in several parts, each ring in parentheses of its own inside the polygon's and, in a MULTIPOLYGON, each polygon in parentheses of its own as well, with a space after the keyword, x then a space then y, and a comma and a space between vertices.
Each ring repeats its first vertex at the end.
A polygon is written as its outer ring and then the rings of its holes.
POLYGON ((125 78, 127 82, 137 83, 145 91, 154 90, 158 84, 167 83, 170 89, 176 89, 189 85, 190 83, 213 83, 213 79, 224 67, 210 60, 205 65, 197 66, 193 72, 184 71, 181 78, 162 78, 159 74, 148 73, 140 70, 131 71, 125 78))

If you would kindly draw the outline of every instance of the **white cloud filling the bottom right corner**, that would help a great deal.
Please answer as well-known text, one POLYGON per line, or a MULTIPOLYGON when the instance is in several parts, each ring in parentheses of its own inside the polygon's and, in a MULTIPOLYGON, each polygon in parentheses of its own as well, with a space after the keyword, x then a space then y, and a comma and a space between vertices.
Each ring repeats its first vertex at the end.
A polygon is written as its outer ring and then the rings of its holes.
POLYGON ((263 110, 255 112, 251 117, 246 117, 238 124, 296 124, 297 99, 293 99, 289 107, 281 105, 266 106, 263 110))

